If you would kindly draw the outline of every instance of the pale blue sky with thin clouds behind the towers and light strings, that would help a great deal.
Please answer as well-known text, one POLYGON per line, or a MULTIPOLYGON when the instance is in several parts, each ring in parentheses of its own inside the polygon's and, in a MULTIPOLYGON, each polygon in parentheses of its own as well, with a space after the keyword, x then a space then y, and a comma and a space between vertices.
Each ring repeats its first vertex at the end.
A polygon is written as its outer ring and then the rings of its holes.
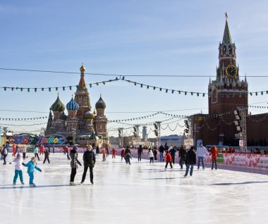
MULTIPOLYGON (((267 75, 267 1, 2 0, 0 68, 79 72, 84 63, 86 73, 121 74, 145 85, 207 93, 209 77, 165 76, 210 75, 214 80, 225 11, 229 13, 231 37, 237 46, 241 79, 245 73, 248 76, 267 75)), ((102 82, 114 77, 86 75, 85 81, 102 82)), ((80 75, 76 74, 0 70, 1 87, 61 87, 77 85, 79 79, 80 75)), ((247 79, 250 92, 268 90, 267 77, 247 79)), ((11 110, 0 111, 1 118, 48 116, 49 107, 57 96, 55 90, 28 93, 0 89, 0 92, 1 110, 11 110)), ((60 90, 61 101, 67 104, 73 92, 60 90)), ((94 85, 89 92, 93 107, 102 94, 109 120, 148 116, 154 113, 152 111, 186 116, 200 111, 207 113, 207 95, 171 94, 123 81, 94 85)), ((249 104, 267 106, 266 94, 249 97, 249 104)), ((267 109, 250 108, 250 111, 266 113, 267 109)), ((167 118, 159 115, 135 123, 167 118)), ((23 124, 2 120, 0 123, 23 124)), ((183 120, 179 123, 183 125, 183 120)), ((44 126, 10 129, 39 130, 44 126)), ((174 129, 176 122, 169 126, 174 129)), ((116 127, 130 126, 109 124, 111 129, 116 127)), ((162 135, 179 134, 182 130, 177 127, 171 132, 166 128, 162 135)), ((110 135, 117 136, 117 132, 111 131, 110 135)), ((150 137, 153 136, 150 132, 150 137)))

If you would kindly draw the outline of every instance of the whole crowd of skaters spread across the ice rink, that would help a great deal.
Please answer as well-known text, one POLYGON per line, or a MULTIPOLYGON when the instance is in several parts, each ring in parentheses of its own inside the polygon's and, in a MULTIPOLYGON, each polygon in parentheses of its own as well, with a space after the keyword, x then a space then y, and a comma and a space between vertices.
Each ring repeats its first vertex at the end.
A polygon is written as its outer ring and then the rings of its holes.
MULTIPOLYGON (((8 155, 8 149, 9 149, 9 145, 8 144, 4 144, 1 148, 0 148, 0 154, 1 154, 1 160, 4 161, 3 165, 6 165, 6 156, 8 155)), ((71 161, 71 177, 70 177, 70 185, 75 186, 75 175, 77 173, 77 168, 78 165, 82 166, 82 163, 80 163, 80 161, 78 160, 78 147, 77 146, 69 146, 66 145, 63 148, 63 154, 66 155, 66 158, 68 160, 71 161)), ((85 181, 85 177, 87 174, 87 170, 90 169, 90 182, 93 185, 93 168, 95 166, 95 162, 96 162, 96 155, 102 154, 102 161, 106 161, 106 158, 109 157, 109 153, 111 153, 111 158, 116 158, 116 153, 120 153, 121 155, 121 161, 125 161, 126 164, 131 164, 130 160, 132 159, 131 156, 131 150, 133 149, 133 147, 126 147, 125 148, 121 148, 120 151, 116 150, 115 148, 111 148, 109 149, 108 147, 104 147, 102 149, 99 149, 99 146, 95 147, 94 144, 90 145, 87 144, 86 146, 86 150, 83 154, 83 165, 84 165, 84 171, 83 171, 83 178, 80 182, 81 185, 83 185, 83 182, 85 181)), ((49 154, 50 151, 53 151, 54 153, 54 146, 47 146, 46 148, 44 147, 44 145, 40 144, 35 145, 34 149, 33 149, 33 153, 34 156, 32 156, 30 158, 30 161, 28 161, 28 163, 24 163, 24 161, 28 158, 27 153, 28 153, 28 146, 24 145, 23 147, 21 147, 21 149, 18 149, 18 145, 13 144, 12 145, 12 156, 13 156, 13 160, 10 162, 10 164, 14 163, 15 164, 15 175, 13 177, 13 185, 16 185, 16 181, 18 179, 18 177, 20 178, 20 182, 22 185, 24 185, 23 182, 23 173, 22 173, 22 166, 28 167, 28 175, 30 178, 30 187, 35 187, 35 183, 33 182, 34 180, 34 175, 33 172, 34 170, 39 170, 40 172, 42 172, 42 170, 37 166, 37 159, 38 161, 40 161, 39 156, 42 155, 42 157, 44 156, 44 160, 43 163, 45 163, 46 161, 48 163, 50 163, 49 161, 49 154), (52 149, 51 149, 52 148, 52 149), (23 158, 20 158, 20 153, 19 151, 21 151, 23 153, 23 158), (22 162, 23 161, 23 162, 22 162)), ((217 156, 219 154, 219 152, 224 152, 224 153, 233 153, 235 152, 235 150, 233 148, 221 148, 221 149, 217 149, 217 147, 213 146, 213 147, 209 147, 208 149, 204 146, 202 146, 202 144, 199 144, 197 146, 196 151, 194 150, 194 147, 190 147, 190 149, 188 149, 188 151, 186 151, 186 149, 181 146, 181 147, 173 147, 173 145, 169 145, 167 146, 167 144, 165 144, 164 146, 161 145, 159 147, 159 149, 153 147, 142 147, 142 145, 140 145, 140 147, 138 147, 137 149, 137 154, 138 154, 138 162, 141 161, 142 156, 148 156, 150 163, 154 163, 154 161, 159 161, 159 162, 166 162, 165 166, 164 166, 164 170, 166 170, 168 168, 168 166, 170 166, 171 169, 173 169, 173 166, 175 165, 175 161, 176 161, 176 154, 178 154, 178 164, 180 166, 181 169, 183 169, 183 165, 185 165, 185 174, 184 174, 184 178, 186 178, 188 176, 188 173, 190 171, 190 176, 193 175, 193 166, 195 166, 197 164, 197 170, 200 170, 200 165, 202 165, 202 169, 205 169, 205 165, 204 165, 204 158, 205 155, 209 155, 211 156, 211 160, 212 160, 212 167, 211 169, 215 169, 217 170, 217 156)), ((255 149, 255 151, 252 151, 251 153, 260 153, 260 150, 255 149)), ((264 151, 264 154, 266 153, 266 151, 264 151)))

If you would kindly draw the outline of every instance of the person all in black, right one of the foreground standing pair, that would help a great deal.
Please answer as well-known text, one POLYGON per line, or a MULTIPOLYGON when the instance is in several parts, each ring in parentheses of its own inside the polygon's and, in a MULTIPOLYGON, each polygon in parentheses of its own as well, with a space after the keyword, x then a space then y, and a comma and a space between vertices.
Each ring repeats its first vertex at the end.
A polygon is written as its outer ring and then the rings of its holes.
POLYGON ((83 185, 83 182, 85 181, 85 176, 87 175, 87 169, 90 168, 90 182, 93 185, 93 168, 96 163, 95 154, 92 151, 92 146, 87 146, 87 151, 84 152, 83 155, 83 161, 84 161, 84 173, 81 180, 81 185, 83 185))

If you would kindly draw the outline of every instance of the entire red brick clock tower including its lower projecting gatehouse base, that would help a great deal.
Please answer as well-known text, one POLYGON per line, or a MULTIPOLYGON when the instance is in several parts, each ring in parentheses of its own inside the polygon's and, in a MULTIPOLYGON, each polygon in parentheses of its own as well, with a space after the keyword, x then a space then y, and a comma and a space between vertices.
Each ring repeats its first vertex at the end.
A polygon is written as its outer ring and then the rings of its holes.
POLYGON ((232 144, 237 133, 233 111, 237 107, 248 108, 248 82, 246 77, 245 80, 239 77, 236 44, 231 41, 227 13, 216 73, 216 80, 209 79, 209 113, 193 116, 194 138, 202 139, 205 144, 232 144))

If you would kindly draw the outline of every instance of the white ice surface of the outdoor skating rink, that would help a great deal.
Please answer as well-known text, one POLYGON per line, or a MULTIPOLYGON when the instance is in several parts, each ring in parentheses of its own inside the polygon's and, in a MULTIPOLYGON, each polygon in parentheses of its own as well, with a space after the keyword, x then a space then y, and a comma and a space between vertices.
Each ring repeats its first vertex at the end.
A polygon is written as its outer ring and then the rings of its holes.
MULTIPOLYGON (((29 158, 32 154, 28 155, 29 158)), ((78 159, 82 162, 83 154, 78 159)), ((41 156, 43 158, 43 156, 41 156)), ((13 187, 14 165, 0 169, 0 223, 264 223, 268 221, 268 176, 233 170, 197 170, 183 178, 178 164, 164 171, 164 163, 119 156, 102 162, 97 156, 94 185, 89 173, 84 185, 69 186, 70 161, 51 154, 51 163, 37 166, 30 188, 13 187)), ((11 154, 8 154, 8 162, 11 154)), ((88 171, 89 172, 89 171, 88 171)), ((75 183, 80 183, 83 166, 75 183)))

